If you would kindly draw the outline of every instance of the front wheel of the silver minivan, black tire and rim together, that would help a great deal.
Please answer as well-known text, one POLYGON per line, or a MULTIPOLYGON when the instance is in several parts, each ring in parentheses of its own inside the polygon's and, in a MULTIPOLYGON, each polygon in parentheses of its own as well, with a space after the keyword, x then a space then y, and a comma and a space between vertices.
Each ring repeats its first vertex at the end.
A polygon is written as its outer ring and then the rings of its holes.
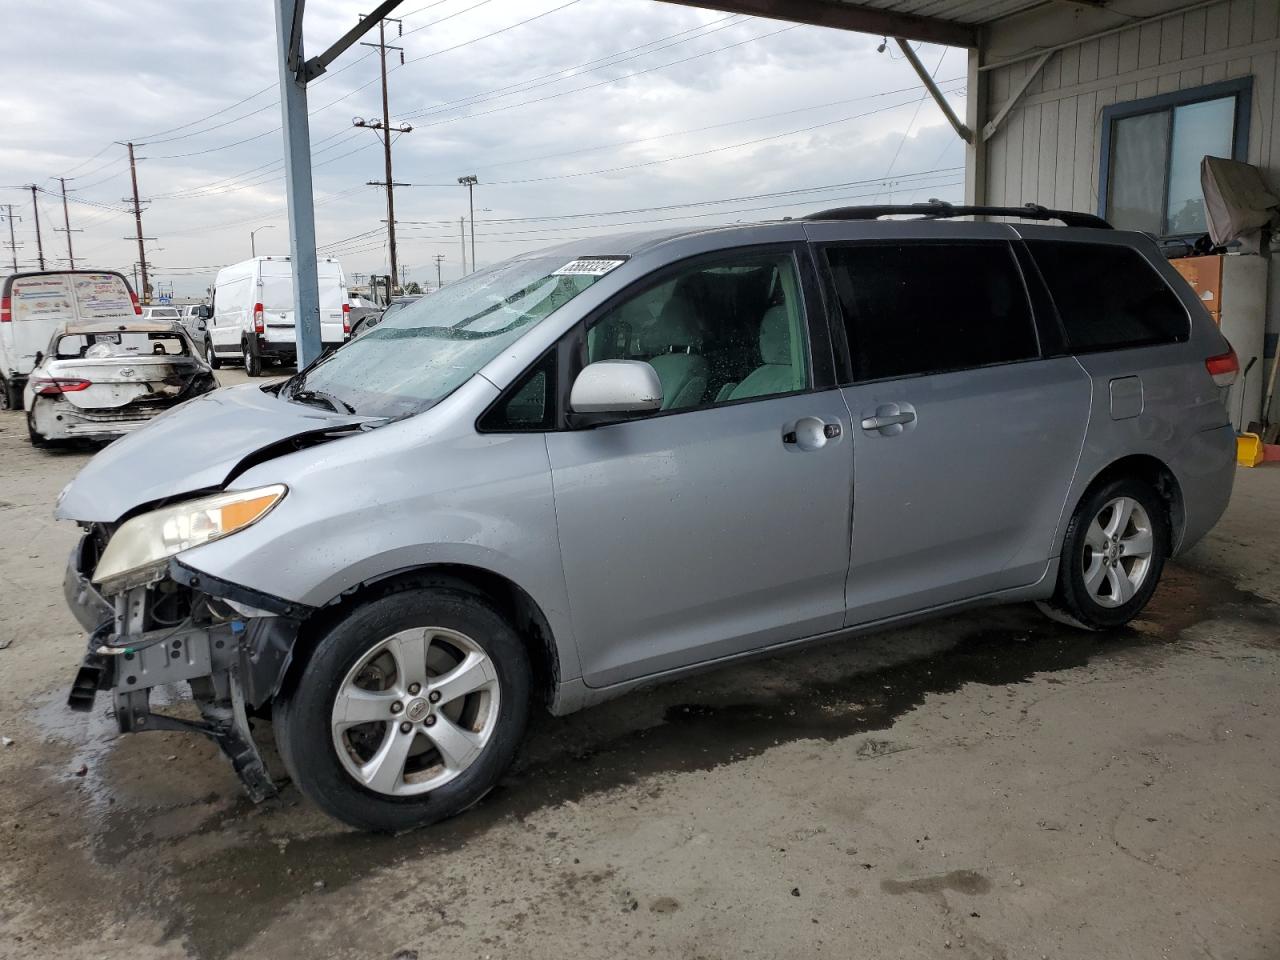
POLYGON ((503 774, 525 735, 524 641, 484 596, 403 585, 330 626, 273 709, 298 788, 357 829, 453 817, 503 774))

